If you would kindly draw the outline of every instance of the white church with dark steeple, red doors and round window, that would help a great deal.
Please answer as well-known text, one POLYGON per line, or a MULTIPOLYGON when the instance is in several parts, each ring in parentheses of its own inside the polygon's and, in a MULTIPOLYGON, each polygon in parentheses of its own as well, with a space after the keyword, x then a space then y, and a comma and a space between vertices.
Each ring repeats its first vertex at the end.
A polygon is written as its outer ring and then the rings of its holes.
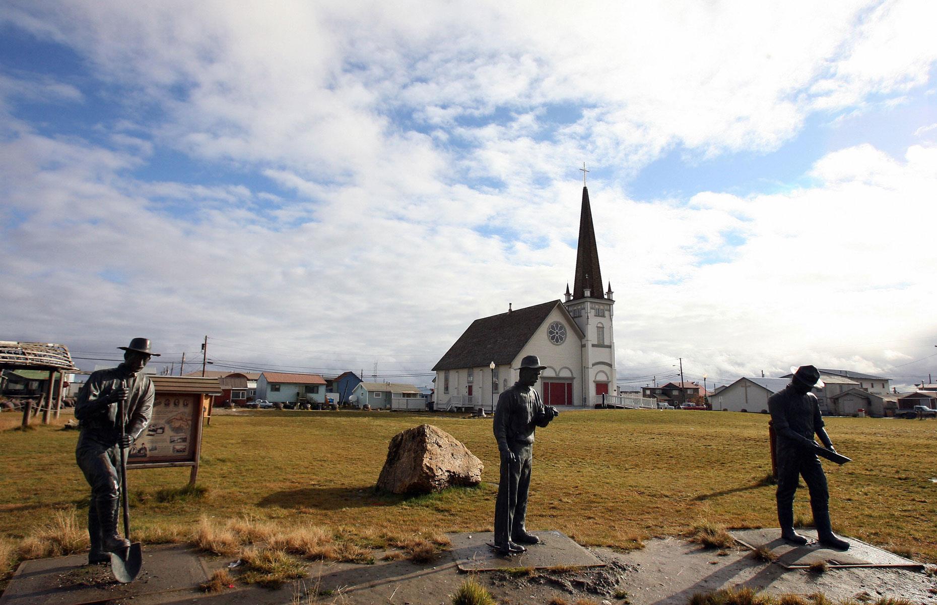
POLYGON ((592 406, 603 394, 616 394, 615 300, 611 283, 602 292, 585 184, 573 292, 567 283, 565 298, 524 309, 509 305, 505 313, 472 322, 433 367, 436 409, 493 410, 501 391, 517 381, 526 355, 546 366, 536 388, 547 405, 592 406))

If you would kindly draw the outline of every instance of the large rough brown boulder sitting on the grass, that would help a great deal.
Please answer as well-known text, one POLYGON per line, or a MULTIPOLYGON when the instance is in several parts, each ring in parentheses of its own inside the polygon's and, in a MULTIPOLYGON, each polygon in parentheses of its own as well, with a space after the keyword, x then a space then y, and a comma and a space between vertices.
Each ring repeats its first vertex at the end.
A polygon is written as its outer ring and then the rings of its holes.
POLYGON ((422 424, 391 439, 378 489, 428 493, 454 485, 478 485, 483 468, 482 461, 451 434, 422 424))

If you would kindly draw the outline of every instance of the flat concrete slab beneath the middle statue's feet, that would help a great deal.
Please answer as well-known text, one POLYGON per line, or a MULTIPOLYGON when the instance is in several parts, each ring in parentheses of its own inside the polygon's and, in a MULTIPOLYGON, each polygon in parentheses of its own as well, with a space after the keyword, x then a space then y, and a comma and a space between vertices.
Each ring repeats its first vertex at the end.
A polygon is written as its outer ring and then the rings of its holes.
POLYGON ((529 545, 522 554, 504 555, 496 552, 489 542, 495 541, 491 532, 476 534, 447 534, 453 542, 451 554, 459 571, 494 571, 504 567, 603 567, 597 556, 573 542, 560 532, 531 532, 541 539, 540 544, 529 545))

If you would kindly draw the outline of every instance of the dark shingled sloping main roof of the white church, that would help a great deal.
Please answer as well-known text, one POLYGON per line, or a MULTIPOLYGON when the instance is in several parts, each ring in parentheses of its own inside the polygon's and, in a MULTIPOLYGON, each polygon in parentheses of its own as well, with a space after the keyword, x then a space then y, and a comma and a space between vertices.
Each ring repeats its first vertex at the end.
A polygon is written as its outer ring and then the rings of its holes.
MULTIPOLYGON (((558 305, 562 307, 563 304, 551 300, 542 305, 476 319, 446 355, 442 355, 433 371, 481 368, 492 361, 499 366, 513 363, 543 320, 558 305)), ((575 323, 570 324, 574 331, 579 331, 575 323)))

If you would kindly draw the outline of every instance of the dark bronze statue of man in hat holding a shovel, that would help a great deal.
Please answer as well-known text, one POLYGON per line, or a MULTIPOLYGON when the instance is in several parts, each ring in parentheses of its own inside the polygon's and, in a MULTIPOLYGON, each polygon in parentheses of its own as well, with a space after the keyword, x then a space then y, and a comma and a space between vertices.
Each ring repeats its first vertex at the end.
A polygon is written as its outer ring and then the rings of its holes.
POLYGON ((155 389, 143 368, 151 356, 159 354, 150 350, 147 339, 133 339, 129 346, 118 348, 125 352, 124 363, 92 373, 78 394, 75 417, 81 421, 82 432, 75 459, 91 486, 88 563, 111 563, 117 579, 129 582, 140 570, 140 547, 131 548, 117 530, 123 495, 124 533, 129 531, 126 450, 153 415, 155 389))

